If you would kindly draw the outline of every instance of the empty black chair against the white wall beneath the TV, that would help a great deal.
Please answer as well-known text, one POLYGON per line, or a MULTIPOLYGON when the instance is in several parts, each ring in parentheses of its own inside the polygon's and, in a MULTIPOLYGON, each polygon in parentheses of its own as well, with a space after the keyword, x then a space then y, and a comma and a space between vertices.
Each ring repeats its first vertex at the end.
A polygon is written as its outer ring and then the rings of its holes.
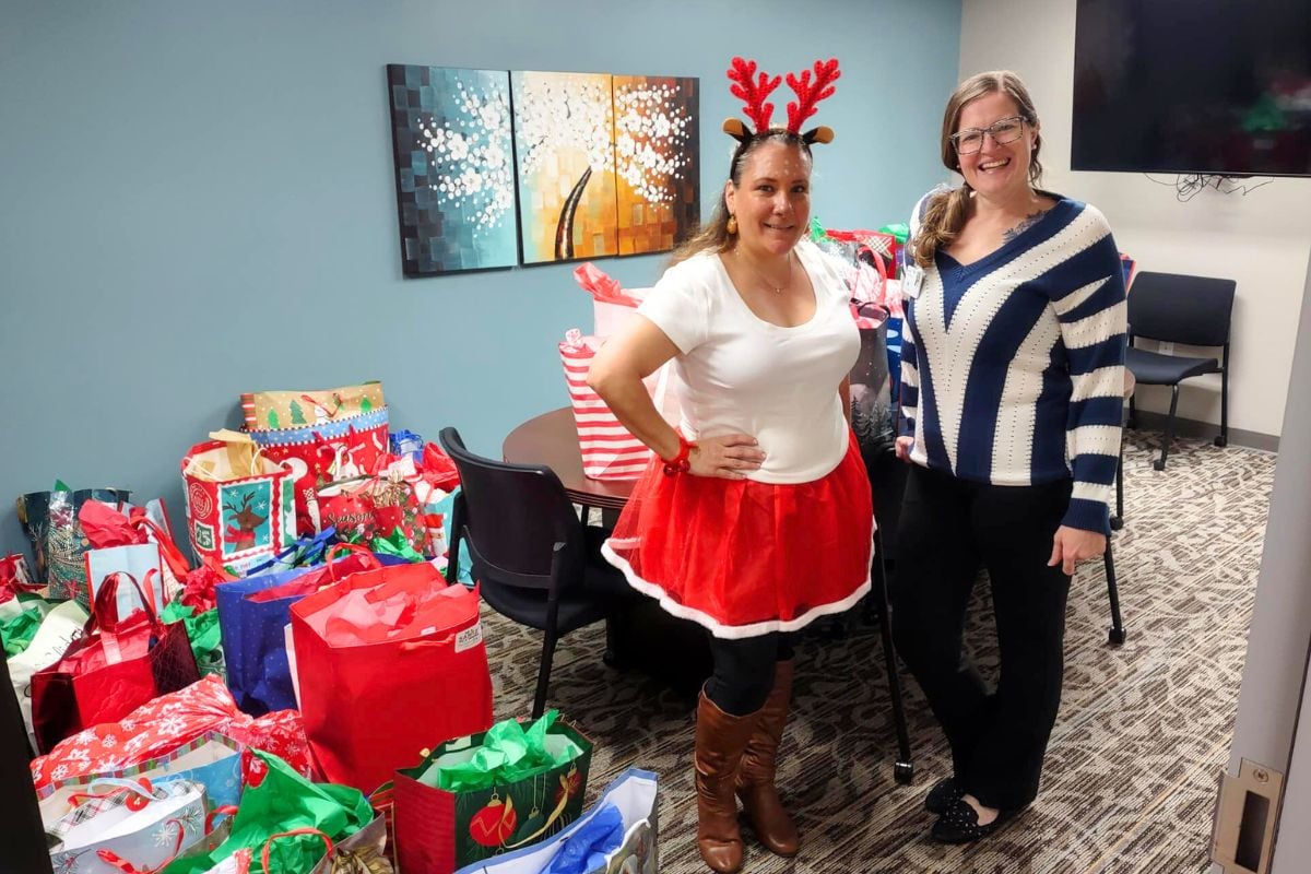
MULTIPOLYGON (((1175 410, 1179 406, 1179 384, 1202 373, 1221 375, 1221 434, 1215 446, 1228 443, 1228 346, 1230 316, 1234 312, 1232 279, 1186 276, 1173 273, 1139 273, 1129 295, 1129 350, 1125 364, 1142 385, 1169 385, 1169 417, 1160 446, 1160 459, 1152 463, 1165 469, 1169 442, 1175 435, 1175 410), (1162 355, 1134 347, 1135 337, 1184 343, 1218 346, 1221 360, 1162 355)), ((1134 400, 1129 398, 1129 423, 1134 426, 1134 400)))

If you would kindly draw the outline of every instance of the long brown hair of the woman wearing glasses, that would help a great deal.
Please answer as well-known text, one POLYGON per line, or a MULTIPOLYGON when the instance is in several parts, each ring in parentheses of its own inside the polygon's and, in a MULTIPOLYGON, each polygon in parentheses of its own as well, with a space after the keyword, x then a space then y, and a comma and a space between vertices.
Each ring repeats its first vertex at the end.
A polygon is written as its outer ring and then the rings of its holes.
MULTIPOLYGON (((956 157, 956 147, 952 144, 952 134, 961 121, 961 110, 970 101, 988 94, 1006 94, 1015 101, 1020 115, 1030 126, 1037 126, 1038 113, 1033 109, 1033 98, 1029 89, 1016 73, 1009 69, 992 69, 986 73, 970 76, 952 93, 947 101, 947 110, 943 113, 941 155, 943 166, 948 170, 958 170, 960 162, 956 157)), ((1037 185, 1042 177, 1042 164, 1038 162, 1038 152, 1042 149, 1042 135, 1034 140, 1033 152, 1029 155, 1029 183, 1037 185)), ((929 195, 924 210, 924 218, 915 231, 915 263, 927 267, 933 263, 933 254, 939 246, 947 246, 956 238, 956 235, 965 227, 965 220, 970 211, 970 186, 962 182, 958 189, 936 191, 929 195)))

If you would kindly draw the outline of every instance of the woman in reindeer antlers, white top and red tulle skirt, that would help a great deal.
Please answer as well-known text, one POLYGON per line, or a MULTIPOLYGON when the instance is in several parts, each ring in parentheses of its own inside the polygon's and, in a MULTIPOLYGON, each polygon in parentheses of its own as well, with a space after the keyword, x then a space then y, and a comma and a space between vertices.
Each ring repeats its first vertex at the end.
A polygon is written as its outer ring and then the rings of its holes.
POLYGON ((716 871, 742 865, 734 793, 780 856, 797 829, 773 785, 792 694, 787 636, 869 590, 869 481, 848 426, 847 372, 860 337, 850 292, 805 241, 810 147, 801 124, 832 94, 838 62, 788 75, 797 100, 772 127, 780 79, 733 59, 732 92, 755 126, 738 140, 711 223, 589 383, 658 459, 603 552, 633 588, 713 636, 714 672, 696 713, 697 845, 716 871), (671 428, 642 377, 674 359, 683 421, 671 428))

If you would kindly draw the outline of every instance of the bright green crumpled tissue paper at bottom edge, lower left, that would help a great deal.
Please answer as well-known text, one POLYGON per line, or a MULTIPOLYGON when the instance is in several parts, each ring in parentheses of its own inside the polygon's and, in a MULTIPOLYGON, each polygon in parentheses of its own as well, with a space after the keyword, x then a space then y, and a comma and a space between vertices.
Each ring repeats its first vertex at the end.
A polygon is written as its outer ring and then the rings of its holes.
POLYGON ((303 874, 312 870, 326 852, 317 832, 332 841, 341 841, 372 822, 374 811, 358 789, 313 784, 274 755, 258 750, 250 750, 250 753, 246 788, 232 818, 228 839, 205 856, 173 861, 164 874, 208 871, 243 849, 254 854, 250 874, 303 874), (265 869, 260 861, 265 843, 274 835, 295 829, 307 829, 307 833, 281 837, 265 869))

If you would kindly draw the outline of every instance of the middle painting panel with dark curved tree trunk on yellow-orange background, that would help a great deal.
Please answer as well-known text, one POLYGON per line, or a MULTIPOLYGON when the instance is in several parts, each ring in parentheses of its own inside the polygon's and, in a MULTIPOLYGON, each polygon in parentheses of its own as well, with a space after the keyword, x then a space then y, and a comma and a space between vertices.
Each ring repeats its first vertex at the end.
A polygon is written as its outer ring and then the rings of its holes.
POLYGON ((510 88, 523 262, 617 254, 611 76, 513 72, 510 88))

